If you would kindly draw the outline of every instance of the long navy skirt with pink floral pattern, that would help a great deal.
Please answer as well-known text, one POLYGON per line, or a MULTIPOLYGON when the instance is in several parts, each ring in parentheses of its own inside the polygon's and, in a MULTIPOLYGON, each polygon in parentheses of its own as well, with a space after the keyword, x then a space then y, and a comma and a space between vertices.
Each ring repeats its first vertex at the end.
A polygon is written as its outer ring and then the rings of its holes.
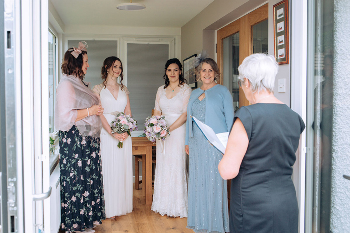
POLYGON ((84 137, 74 125, 59 131, 61 227, 69 233, 105 219, 100 138, 84 137))

